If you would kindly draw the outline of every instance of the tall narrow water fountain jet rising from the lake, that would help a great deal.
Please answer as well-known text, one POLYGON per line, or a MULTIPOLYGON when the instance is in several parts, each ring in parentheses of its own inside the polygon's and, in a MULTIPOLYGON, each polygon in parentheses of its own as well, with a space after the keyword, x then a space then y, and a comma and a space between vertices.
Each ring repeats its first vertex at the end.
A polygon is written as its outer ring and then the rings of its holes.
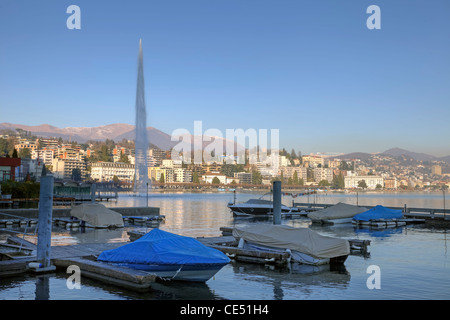
POLYGON ((144 58, 142 54, 142 39, 139 39, 138 79, 136 89, 136 140, 134 164, 134 192, 146 193, 149 187, 147 169, 147 111, 144 94, 144 58))

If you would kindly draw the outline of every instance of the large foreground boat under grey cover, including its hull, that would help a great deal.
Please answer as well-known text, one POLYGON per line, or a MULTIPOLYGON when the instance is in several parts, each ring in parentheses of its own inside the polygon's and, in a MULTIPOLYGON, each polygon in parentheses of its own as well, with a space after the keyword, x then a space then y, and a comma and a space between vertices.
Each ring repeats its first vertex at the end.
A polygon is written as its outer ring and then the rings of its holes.
POLYGON ((255 224, 234 227, 239 247, 264 252, 288 252, 291 262, 308 265, 343 264, 350 254, 348 240, 318 234, 309 228, 255 224))

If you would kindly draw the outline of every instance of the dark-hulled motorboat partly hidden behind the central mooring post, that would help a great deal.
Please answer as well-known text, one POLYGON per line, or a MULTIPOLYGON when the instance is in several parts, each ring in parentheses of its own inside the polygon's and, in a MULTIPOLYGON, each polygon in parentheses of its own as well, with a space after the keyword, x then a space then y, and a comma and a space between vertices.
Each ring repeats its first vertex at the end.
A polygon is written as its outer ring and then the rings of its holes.
MULTIPOLYGON (((264 196, 271 194, 266 193, 258 199, 249 199, 246 202, 234 203, 229 202, 228 208, 233 212, 235 217, 251 216, 251 215, 268 215, 273 214, 273 201, 262 199, 264 196)), ((281 205, 281 213, 298 212, 298 208, 281 205)))

